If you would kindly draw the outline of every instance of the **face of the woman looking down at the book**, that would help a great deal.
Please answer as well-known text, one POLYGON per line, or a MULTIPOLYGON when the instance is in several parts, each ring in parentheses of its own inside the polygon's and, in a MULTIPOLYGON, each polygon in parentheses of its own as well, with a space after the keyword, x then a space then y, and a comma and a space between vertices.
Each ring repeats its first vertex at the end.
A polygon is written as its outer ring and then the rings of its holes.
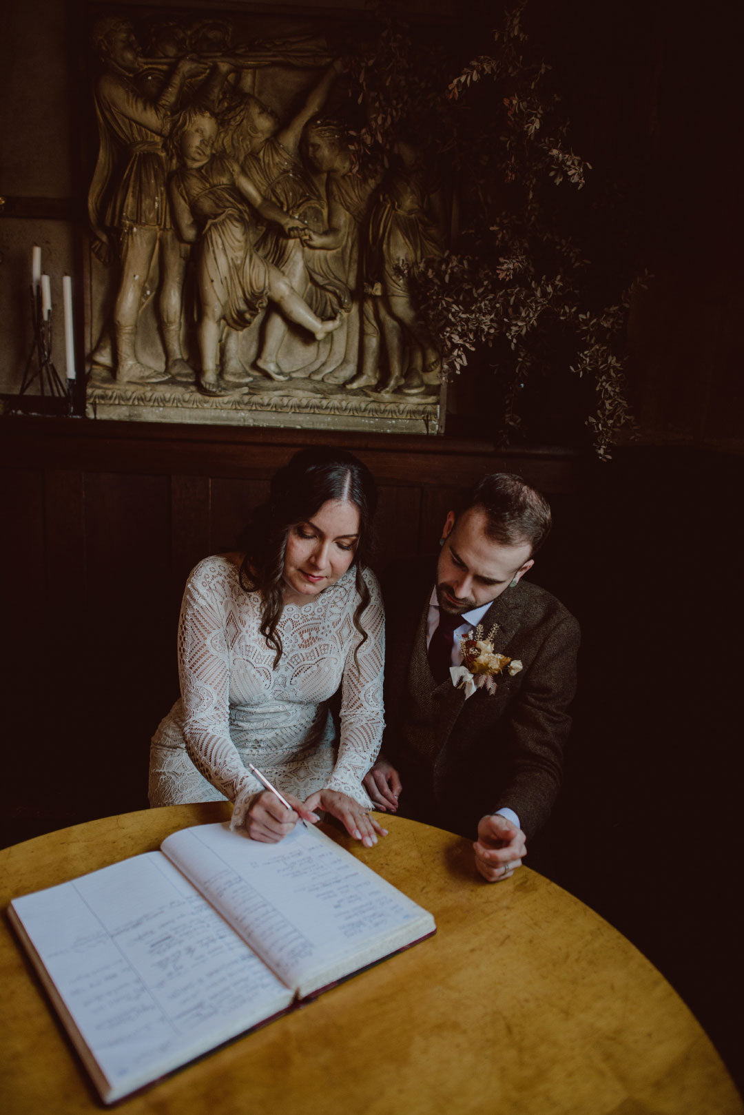
POLYGON ((284 601, 306 603, 346 573, 359 541, 356 504, 329 500, 290 527, 284 552, 284 601))

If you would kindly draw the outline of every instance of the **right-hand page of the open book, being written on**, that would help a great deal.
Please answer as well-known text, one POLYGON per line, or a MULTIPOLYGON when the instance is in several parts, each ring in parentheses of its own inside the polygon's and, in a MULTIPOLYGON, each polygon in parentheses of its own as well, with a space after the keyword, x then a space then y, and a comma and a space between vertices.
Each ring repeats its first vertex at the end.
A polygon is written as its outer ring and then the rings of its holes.
POLYGON ((434 931, 431 914, 317 830, 278 844, 196 825, 163 851, 289 987, 308 995, 434 931))

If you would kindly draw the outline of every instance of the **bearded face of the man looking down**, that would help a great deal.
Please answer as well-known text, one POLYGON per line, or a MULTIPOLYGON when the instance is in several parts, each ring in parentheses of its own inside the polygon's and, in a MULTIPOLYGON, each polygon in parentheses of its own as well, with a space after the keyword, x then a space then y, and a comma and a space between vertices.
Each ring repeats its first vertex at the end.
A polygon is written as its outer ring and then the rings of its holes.
POLYGON ((534 564, 529 543, 502 545, 486 535, 485 525, 481 507, 468 507, 456 521, 450 512, 444 524, 436 594, 442 611, 452 615, 495 600, 534 564))

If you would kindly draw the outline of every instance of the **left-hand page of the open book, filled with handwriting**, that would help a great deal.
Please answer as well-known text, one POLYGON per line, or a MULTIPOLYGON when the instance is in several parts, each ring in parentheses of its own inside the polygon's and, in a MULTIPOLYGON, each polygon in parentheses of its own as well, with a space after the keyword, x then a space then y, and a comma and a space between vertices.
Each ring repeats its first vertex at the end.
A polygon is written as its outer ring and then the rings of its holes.
POLYGON ((12 909, 109 1082, 109 1101, 292 998, 160 852, 12 909))

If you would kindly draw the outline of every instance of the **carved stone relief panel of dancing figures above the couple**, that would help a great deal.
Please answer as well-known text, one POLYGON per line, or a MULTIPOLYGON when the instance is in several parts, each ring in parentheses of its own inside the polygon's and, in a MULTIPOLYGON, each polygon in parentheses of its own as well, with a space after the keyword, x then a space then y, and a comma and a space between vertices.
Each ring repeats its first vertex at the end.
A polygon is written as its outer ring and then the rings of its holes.
POLYGON ((354 28, 321 23, 93 22, 89 413, 441 430, 406 274, 446 248, 437 167, 410 127, 360 153, 354 28))

